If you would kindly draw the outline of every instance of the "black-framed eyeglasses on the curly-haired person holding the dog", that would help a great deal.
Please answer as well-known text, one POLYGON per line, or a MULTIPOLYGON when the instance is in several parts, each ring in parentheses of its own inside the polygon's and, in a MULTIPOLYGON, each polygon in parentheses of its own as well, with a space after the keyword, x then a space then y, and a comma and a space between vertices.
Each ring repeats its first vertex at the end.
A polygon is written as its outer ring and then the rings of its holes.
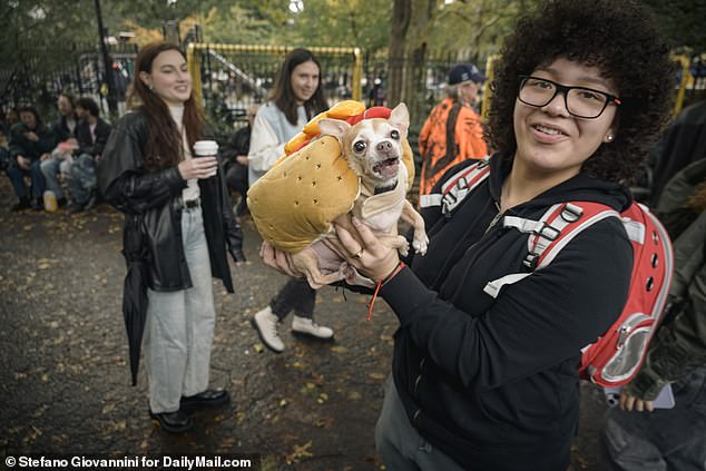
POLYGON ((557 94, 563 94, 563 104, 571 116, 584 119, 598 118, 610 104, 620 105, 615 95, 586 87, 567 87, 556 81, 519 76, 520 91, 518 99, 526 105, 541 108, 555 99, 557 94))

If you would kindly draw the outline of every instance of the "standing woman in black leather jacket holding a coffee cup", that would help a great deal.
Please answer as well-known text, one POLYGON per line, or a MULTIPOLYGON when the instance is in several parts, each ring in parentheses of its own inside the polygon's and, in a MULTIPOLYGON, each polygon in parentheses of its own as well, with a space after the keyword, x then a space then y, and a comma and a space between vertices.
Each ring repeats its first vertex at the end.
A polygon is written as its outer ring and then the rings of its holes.
POLYGON ((208 389, 216 312, 212 276, 233 293, 226 246, 244 262, 243 233, 215 157, 194 156, 204 119, 184 53, 153 42, 137 55, 127 114, 98 165, 106 199, 125 213, 128 283, 147 284, 144 351, 149 414, 167 432, 193 426, 189 411, 229 401, 208 389))

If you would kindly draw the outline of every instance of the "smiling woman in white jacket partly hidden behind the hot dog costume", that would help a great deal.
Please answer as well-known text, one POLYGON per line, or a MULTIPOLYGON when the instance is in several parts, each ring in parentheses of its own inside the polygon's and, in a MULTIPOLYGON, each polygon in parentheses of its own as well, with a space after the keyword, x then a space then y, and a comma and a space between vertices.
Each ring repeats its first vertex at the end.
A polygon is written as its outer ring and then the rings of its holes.
MULTIPOLYGON (((326 109, 318 60, 307 49, 294 49, 277 72, 271 100, 259 108, 253 124, 247 155, 249 185, 284 155, 284 145, 301 133, 311 118, 326 109)), ((295 334, 332 340, 333 331, 313 320, 315 302, 316 292, 306 279, 291 278, 251 323, 265 346, 275 353, 284 351, 277 327, 292 311, 295 334)))

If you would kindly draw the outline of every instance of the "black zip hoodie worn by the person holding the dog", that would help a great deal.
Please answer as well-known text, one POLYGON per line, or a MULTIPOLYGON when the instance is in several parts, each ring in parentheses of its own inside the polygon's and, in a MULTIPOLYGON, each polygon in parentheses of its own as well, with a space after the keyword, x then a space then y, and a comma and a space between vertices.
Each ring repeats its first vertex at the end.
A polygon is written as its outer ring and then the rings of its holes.
MULTIPOLYGON (((463 163, 450 169, 440 185, 463 163)), ((528 272, 528 235, 503 228, 496 202, 509 164, 450 218, 423 213, 431 239, 380 294, 400 318, 393 377, 412 424, 467 470, 565 471, 579 411, 580 349, 604 334, 627 300, 633 248, 609 217, 584 230, 541 271, 528 272)), ((616 184, 579 174, 506 215, 539 219, 556 203, 630 204, 616 184)))

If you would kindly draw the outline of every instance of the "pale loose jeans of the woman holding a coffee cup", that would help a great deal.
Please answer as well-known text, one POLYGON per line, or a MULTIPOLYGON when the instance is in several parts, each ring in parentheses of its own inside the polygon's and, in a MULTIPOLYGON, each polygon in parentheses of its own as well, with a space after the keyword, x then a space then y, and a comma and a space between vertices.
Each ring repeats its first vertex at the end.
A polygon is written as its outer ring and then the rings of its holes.
POLYGON ((198 394, 208 387, 216 312, 200 207, 183 210, 182 239, 194 286, 147 292, 143 351, 154 413, 175 412, 183 395, 198 394))

